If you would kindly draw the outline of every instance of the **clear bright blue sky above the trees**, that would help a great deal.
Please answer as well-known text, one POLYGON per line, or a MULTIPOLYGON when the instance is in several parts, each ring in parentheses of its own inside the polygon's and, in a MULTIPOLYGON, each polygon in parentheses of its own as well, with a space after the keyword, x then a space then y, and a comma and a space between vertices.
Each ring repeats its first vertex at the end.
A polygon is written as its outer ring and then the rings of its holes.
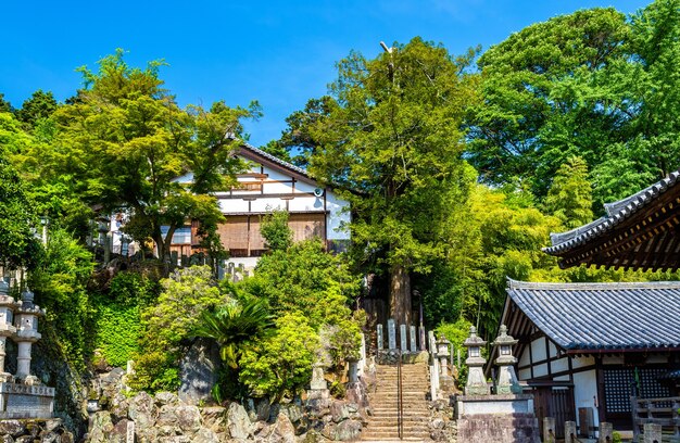
POLYGON ((278 138, 285 118, 326 92, 350 50, 377 55, 379 42, 415 36, 452 53, 503 41, 531 23, 583 8, 631 13, 648 0, 394 1, 8 1, 2 7, 0 92, 14 106, 37 90, 59 101, 80 86, 81 65, 116 48, 135 66, 164 59, 161 77, 181 105, 260 101, 251 143, 278 138))

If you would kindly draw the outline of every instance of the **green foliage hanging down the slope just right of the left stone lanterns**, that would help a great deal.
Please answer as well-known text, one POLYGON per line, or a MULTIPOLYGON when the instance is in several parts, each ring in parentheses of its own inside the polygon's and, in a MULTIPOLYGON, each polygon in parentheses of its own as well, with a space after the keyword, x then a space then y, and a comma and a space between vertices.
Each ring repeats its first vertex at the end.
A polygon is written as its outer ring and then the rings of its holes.
POLYGON ((46 311, 56 345, 78 369, 91 350, 92 304, 87 283, 92 255, 64 230, 50 231, 46 258, 29 278, 36 303, 46 311))

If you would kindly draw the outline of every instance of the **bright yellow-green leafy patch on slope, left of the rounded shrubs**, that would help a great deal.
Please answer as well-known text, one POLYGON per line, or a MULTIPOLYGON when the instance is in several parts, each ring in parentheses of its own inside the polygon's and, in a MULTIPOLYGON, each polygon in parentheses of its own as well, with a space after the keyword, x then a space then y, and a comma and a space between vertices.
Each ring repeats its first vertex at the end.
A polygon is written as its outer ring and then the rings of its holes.
POLYGON ((101 296, 93 304, 97 312, 95 347, 109 365, 125 367, 139 351, 139 306, 101 296))

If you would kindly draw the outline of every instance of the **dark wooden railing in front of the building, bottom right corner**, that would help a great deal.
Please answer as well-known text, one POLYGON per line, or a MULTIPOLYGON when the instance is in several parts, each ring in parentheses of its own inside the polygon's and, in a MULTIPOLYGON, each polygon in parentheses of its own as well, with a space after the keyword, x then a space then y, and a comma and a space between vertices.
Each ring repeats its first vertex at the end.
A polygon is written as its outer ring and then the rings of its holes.
POLYGON ((631 397, 633 434, 640 435, 645 423, 660 425, 664 433, 680 439, 680 397, 631 397))

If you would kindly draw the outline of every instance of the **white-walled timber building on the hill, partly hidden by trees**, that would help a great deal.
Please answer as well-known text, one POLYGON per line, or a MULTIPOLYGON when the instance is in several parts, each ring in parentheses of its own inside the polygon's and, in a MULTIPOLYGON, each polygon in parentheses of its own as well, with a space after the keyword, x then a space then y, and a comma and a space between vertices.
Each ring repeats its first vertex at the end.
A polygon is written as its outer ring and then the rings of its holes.
MULTIPOLYGON (((265 252, 260 233, 262 217, 274 210, 290 214, 289 227, 293 240, 322 239, 330 251, 343 251, 350 235, 349 202, 331 188, 322 187, 301 167, 292 165, 249 144, 237 151, 247 163, 247 170, 237 176, 238 186, 216 192, 226 221, 218 235, 229 252, 229 262, 252 268, 265 252)), ((187 174, 179 180, 191 180, 187 174)), ((197 225, 178 229, 173 236, 172 250, 190 255, 198 249, 197 225), (189 254, 187 254, 189 252, 189 254)))

